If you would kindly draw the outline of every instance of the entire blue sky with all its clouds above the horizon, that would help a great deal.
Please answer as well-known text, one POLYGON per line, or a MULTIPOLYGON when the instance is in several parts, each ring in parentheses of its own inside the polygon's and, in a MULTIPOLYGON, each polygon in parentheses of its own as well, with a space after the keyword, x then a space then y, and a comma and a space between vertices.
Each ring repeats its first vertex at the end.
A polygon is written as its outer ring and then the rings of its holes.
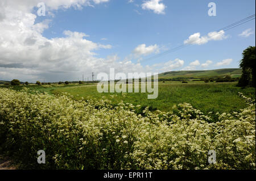
POLYGON ((254 0, 0 0, 0 80, 238 68, 255 19, 221 28, 253 14, 254 0))

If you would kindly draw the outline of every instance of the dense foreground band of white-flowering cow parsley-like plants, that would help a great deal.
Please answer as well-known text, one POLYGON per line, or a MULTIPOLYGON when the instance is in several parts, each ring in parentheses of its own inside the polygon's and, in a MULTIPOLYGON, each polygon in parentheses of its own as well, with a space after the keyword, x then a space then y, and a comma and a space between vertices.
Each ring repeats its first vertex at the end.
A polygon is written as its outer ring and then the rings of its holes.
POLYGON ((138 115, 129 103, 0 89, 0 145, 28 169, 255 169, 255 100, 240 95, 239 112, 183 103, 138 115))

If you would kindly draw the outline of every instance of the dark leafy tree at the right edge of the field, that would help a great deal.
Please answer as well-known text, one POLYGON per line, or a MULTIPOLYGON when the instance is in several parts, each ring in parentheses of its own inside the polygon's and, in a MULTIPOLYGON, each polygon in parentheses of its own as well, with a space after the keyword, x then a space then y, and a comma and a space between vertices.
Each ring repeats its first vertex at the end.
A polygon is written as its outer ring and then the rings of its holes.
POLYGON ((243 50, 243 58, 240 61, 242 68, 242 76, 238 82, 238 86, 253 86, 255 87, 255 47, 248 47, 243 50))

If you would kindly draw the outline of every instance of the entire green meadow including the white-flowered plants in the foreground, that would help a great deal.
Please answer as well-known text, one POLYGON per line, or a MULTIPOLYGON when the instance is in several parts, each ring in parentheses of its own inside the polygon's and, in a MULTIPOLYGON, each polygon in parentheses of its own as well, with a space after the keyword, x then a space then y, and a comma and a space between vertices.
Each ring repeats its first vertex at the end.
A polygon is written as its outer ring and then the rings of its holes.
POLYGON ((0 153, 20 169, 255 169, 255 88, 236 85, 162 81, 156 99, 97 83, 0 85, 0 153))

